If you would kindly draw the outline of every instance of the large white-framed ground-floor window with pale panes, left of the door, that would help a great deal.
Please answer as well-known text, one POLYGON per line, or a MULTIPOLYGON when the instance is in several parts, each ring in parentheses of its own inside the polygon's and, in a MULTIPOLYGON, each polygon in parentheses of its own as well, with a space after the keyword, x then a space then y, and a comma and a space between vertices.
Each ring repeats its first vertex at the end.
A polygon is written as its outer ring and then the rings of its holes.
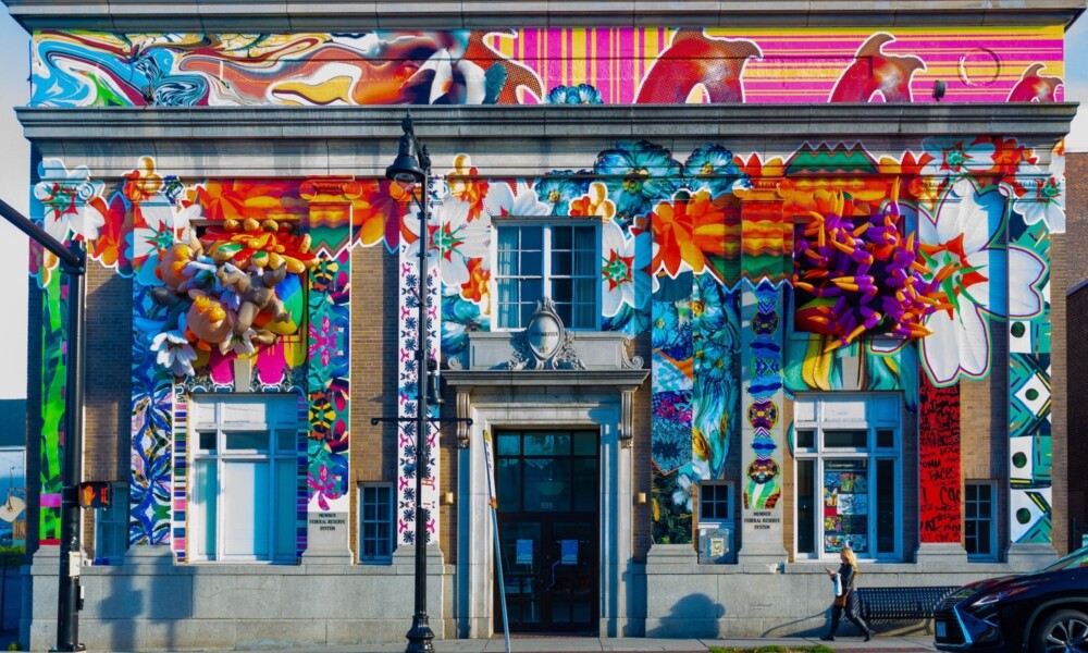
POLYGON ((193 399, 191 560, 296 560, 297 419, 295 395, 193 399))

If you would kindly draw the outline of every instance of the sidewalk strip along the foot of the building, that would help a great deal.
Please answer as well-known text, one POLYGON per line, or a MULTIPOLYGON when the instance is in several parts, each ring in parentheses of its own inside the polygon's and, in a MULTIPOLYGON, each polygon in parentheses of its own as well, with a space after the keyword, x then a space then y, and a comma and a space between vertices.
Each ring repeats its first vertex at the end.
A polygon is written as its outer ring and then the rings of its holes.
MULTIPOLYGON (((515 638, 510 640, 510 650, 515 653, 583 653, 593 651, 638 652, 648 653, 663 651, 667 653, 706 653, 710 646, 722 649, 756 649, 758 646, 782 646, 783 649, 803 649, 823 644, 834 651, 936 651, 931 637, 875 637, 863 642, 860 637, 841 637, 833 642, 821 642, 818 637, 786 637, 775 639, 732 638, 732 639, 643 639, 643 638, 595 638, 595 637, 548 637, 548 638, 515 638)), ((405 642, 392 644, 359 644, 358 646, 335 646, 324 649, 308 649, 308 652, 324 651, 327 653, 400 653, 405 642)), ((502 637, 484 640, 435 640, 435 653, 503 653, 506 643, 502 637)), ((290 653, 302 653, 292 650, 290 653)))

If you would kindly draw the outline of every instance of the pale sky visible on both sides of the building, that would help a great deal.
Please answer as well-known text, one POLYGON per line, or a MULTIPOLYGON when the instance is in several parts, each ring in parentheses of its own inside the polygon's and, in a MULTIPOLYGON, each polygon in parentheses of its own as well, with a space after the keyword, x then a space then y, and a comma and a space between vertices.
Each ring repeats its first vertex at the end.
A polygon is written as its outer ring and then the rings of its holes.
MULTIPOLYGON (((7 7, 0 15, 0 199, 28 214, 29 145, 14 107, 29 101, 29 37, 7 7)), ((1068 151, 1088 151, 1088 13, 1065 35, 1065 99, 1081 103, 1066 139, 1068 151)), ((0 398, 26 396, 26 237, 0 219, 0 398)), ((2 471, 2 470, 0 470, 2 471)))

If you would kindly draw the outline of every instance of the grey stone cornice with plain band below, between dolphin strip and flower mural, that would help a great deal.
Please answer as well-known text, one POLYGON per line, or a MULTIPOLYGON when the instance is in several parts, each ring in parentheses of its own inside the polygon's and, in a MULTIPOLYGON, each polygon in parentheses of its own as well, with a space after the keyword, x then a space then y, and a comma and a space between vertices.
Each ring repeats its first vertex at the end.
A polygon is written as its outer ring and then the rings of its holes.
MULTIPOLYGON (((917 147, 929 136, 993 134, 1047 148, 1068 133, 1076 103, 683 104, 412 107, 435 170, 457 152, 481 174, 539 175, 592 168, 617 140, 673 151, 722 143, 781 151, 809 143, 917 147)), ((174 174, 383 176, 396 153, 404 107, 16 110, 44 157, 122 174, 151 156, 174 174)))

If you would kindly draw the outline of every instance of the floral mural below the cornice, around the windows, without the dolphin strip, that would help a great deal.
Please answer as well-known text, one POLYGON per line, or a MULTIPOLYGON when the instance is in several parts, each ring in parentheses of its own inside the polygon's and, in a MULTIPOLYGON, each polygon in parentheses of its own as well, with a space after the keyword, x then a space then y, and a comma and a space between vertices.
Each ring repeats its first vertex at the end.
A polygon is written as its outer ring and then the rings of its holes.
MULTIPOLYGON (((740 398, 735 380, 740 378, 739 357, 745 350, 741 344, 739 292, 741 284, 749 283, 742 280, 753 275, 781 279, 786 266, 794 267, 799 281, 793 284, 792 293, 780 297, 779 291, 763 285, 752 291, 757 296, 762 293, 764 299, 752 305, 755 311, 751 318, 753 344, 747 345, 751 348, 763 342, 761 338, 770 337, 771 332, 767 329, 771 324, 781 331, 782 307, 771 306, 770 300, 775 297, 779 298, 776 301, 788 300, 782 306, 789 307, 786 323, 790 333, 782 338, 775 335, 771 340, 783 344, 784 355, 777 355, 777 365, 783 372, 783 389, 791 394, 813 389, 903 390, 907 405, 913 406, 917 404, 912 397, 916 396, 918 387, 913 370, 919 366, 937 387, 961 379, 985 378, 990 365, 991 322, 1011 317, 1015 320, 1011 328, 1014 336, 1031 333, 1039 344, 1030 347, 1043 346, 1046 341, 1040 328, 1029 332, 1026 326, 1017 326, 1029 320, 1038 321, 1043 315, 1044 261, 1049 252, 1046 239, 1039 237, 1039 230, 1051 224, 1058 229, 1064 226, 1061 159, 1058 157, 1058 164, 1046 172, 1038 168, 1038 161, 1034 152, 1014 141, 989 137, 927 141, 923 152, 905 152, 898 157, 874 156, 857 146, 804 146, 790 156, 766 162, 757 156, 734 156, 715 145, 698 148, 683 163, 653 144, 625 141, 597 157, 594 171, 599 172, 597 178, 601 181, 574 177, 567 171, 555 171, 540 180, 503 181, 460 176, 459 173, 474 172, 470 159, 461 155, 436 184, 438 190, 433 198, 436 219, 429 229, 429 236, 435 266, 429 286, 436 293, 441 282, 443 289, 441 319, 437 307, 430 313, 432 347, 438 350, 441 337, 442 357, 448 361, 463 356, 468 332, 490 328, 487 244, 497 221, 507 215, 601 218, 605 328, 632 334, 648 331, 654 346, 655 540, 687 541, 691 537, 694 486, 702 479, 722 478, 724 460, 739 429, 740 398), (842 175, 830 180, 830 185, 816 183, 814 173, 848 164, 862 172, 898 172, 901 176, 842 175), (665 171, 669 176, 629 183, 632 171, 646 167, 665 171), (781 200, 780 204, 758 205, 762 208, 742 217, 739 197, 750 193, 746 188, 753 173, 764 180, 768 177, 762 175, 780 174, 782 181, 775 183, 774 193, 781 200), (912 199, 902 197, 906 188, 912 189, 912 199), (799 225, 796 235, 787 239, 790 230, 774 211, 778 211, 778 215, 808 214, 813 220, 807 225, 799 225), (1010 232, 1010 237, 1015 234, 1016 238, 1003 248, 1000 234, 1009 229, 1006 214, 1016 217, 1022 226, 1010 232), (1035 222, 1028 224, 1028 217, 1035 222), (836 218, 839 222, 832 225, 831 220, 836 218), (442 226, 435 226, 437 224, 442 226), (878 237, 869 234, 870 231, 883 235, 878 237), (913 239, 915 233, 917 238, 913 239), (759 239, 755 238, 756 234, 759 239), (821 235, 823 245, 819 243, 821 235), (860 243, 863 245, 858 246, 860 243), (887 251, 881 250, 885 246, 887 251), (821 247, 829 256, 813 256, 819 255, 821 247), (828 247, 833 247, 833 251, 828 247), (794 252, 792 263, 783 266, 787 259, 778 254, 782 251, 794 252), (893 258, 900 254, 907 255, 908 264, 893 264, 893 258), (865 260, 855 260, 857 258, 865 260), (877 268, 879 273, 873 273, 877 268), (889 274, 889 269, 902 273, 889 274), (825 271, 828 274, 824 274, 825 271), (840 283, 829 281, 831 271, 840 275, 833 278, 840 279, 840 283), (864 272, 869 272, 873 288, 863 287, 858 282, 860 276, 866 275, 864 272), (850 287, 841 282, 845 276, 853 278, 845 284, 850 287), (815 279, 820 285, 801 281, 803 279, 815 279), (878 280, 887 282, 886 285, 878 286, 878 280), (910 322, 914 328, 908 326, 902 334, 894 328, 881 333, 877 328, 879 323, 855 334, 860 325, 865 326, 864 321, 834 324, 831 329, 834 320, 814 320, 813 312, 807 310, 814 299, 820 298, 814 292, 817 288, 825 288, 825 293, 841 288, 836 301, 842 297, 846 299, 841 301, 841 308, 827 315, 844 316, 855 311, 858 317, 866 318, 860 308, 865 307, 867 298, 880 298, 881 307, 893 300, 899 303, 895 293, 901 293, 907 284, 927 288, 918 295, 936 299, 914 313, 910 322), (652 293, 647 292, 651 287, 655 288, 652 293), (652 301, 647 303, 647 297, 652 297, 652 301), (756 325, 761 330, 756 330, 756 325), (806 334, 805 328, 816 333, 806 334), (932 334, 924 335, 926 331, 932 334), (908 335, 907 332, 922 336, 917 349, 905 345, 902 337, 895 337, 908 335), (854 335, 844 338, 843 334, 854 335), (848 369, 852 377, 846 373, 848 369)), ((53 204, 44 201, 41 206, 59 205, 77 215, 78 220, 69 219, 65 229, 79 230, 77 233, 89 236, 90 251, 103 264, 135 274, 133 543, 159 543, 169 539, 171 482, 175 516, 183 514, 176 508, 180 505, 178 483, 184 483, 184 441, 172 433, 178 423, 184 424, 184 411, 173 406, 172 380, 175 371, 187 373, 186 366, 199 365, 201 357, 207 362, 194 368, 194 372, 201 370, 193 377, 190 384, 194 387, 230 387, 234 382, 227 365, 232 357, 255 355, 256 389, 299 389, 308 383, 312 386, 311 394, 331 393, 327 402, 311 402, 325 408, 308 416, 311 448, 321 445, 309 456, 309 496, 319 497, 319 501, 343 498, 346 461, 338 456, 347 446, 346 428, 343 427, 346 423, 346 372, 327 366, 322 368, 316 360, 327 359, 332 365, 346 359, 343 355, 346 342, 342 340, 346 318, 338 312, 342 308, 336 307, 346 306, 348 259, 345 256, 348 247, 383 243, 390 249, 404 249, 406 274, 403 279, 407 281, 415 274, 415 255, 410 247, 413 244, 411 234, 418 229, 412 222, 418 221, 418 217, 409 211, 403 229, 391 227, 388 217, 398 214, 404 200, 396 196, 395 187, 366 181, 353 186, 353 192, 345 195, 338 218, 342 225, 350 220, 350 232, 339 229, 335 232, 337 235, 321 238, 322 251, 336 249, 338 254, 332 258, 321 255, 320 264, 309 273, 308 308, 294 313, 301 316, 294 320, 295 323, 310 320, 309 354, 313 355, 308 356, 307 347, 295 342, 297 338, 293 341, 293 336, 270 343, 255 353, 233 347, 223 352, 219 347, 194 347, 184 335, 175 334, 178 337, 171 340, 170 334, 178 330, 169 328, 172 323, 170 307, 151 300, 154 288, 166 283, 163 274, 169 276, 174 271, 176 266, 171 260, 177 263, 184 259, 186 264, 190 260, 199 262, 191 256, 197 246, 180 241, 188 232, 190 218, 221 221, 242 218, 244 223, 247 219, 254 220, 246 218, 252 213, 288 219, 306 214, 309 224, 313 224, 313 217, 307 214, 305 200, 299 196, 299 186, 305 182, 213 181, 185 185, 173 177, 160 177, 153 171, 153 162, 145 159, 129 177, 108 193, 102 184, 90 183, 86 171, 70 173, 59 162, 44 165, 52 171, 49 174, 64 180, 72 177, 74 181, 69 183, 82 184, 86 190, 82 195, 74 189, 66 192, 66 197, 72 198, 69 204, 58 202, 49 198, 65 197, 59 190, 64 185, 50 182, 55 188, 52 194, 44 194, 44 199, 53 204), (401 243, 405 234, 408 237, 401 243), (325 309, 332 312, 324 315, 325 309), (313 347, 327 352, 327 356, 316 358, 319 352, 313 347), (198 348, 203 354, 198 354, 198 348), (307 358, 310 360, 309 382, 292 371, 302 370, 307 358), (154 365, 148 365, 151 360, 154 365), (325 424, 329 426, 327 436, 314 436, 323 432, 325 424), (329 455, 323 457, 319 449, 327 449, 329 455), (172 458, 178 456, 182 459, 174 463, 172 458)), ((394 223, 399 225, 400 221, 394 223)), ((321 233, 321 229, 314 232, 321 233)), ((274 231, 280 233, 279 229, 274 231)), ((267 233, 272 235, 273 232, 267 233)), ((224 231, 224 239, 217 242, 228 242, 228 234, 224 231)), ((37 272, 44 279, 54 278, 54 266, 55 261, 42 259, 37 272)), ((214 278, 214 273, 209 272, 209 275, 214 278)), ((184 284, 186 280, 178 283, 184 284)), ((415 360, 411 318, 418 299, 409 292, 411 288, 415 288, 413 283, 405 283, 401 310, 407 326, 403 333, 401 358, 406 365, 415 360)), ((891 311, 885 309, 883 312, 891 311)), ((1035 348, 1030 352, 1041 354, 1035 348)), ((768 371, 766 364, 770 359, 761 355, 752 360, 757 358, 758 365, 753 370, 768 371)), ((1044 403, 1031 403, 1041 396, 1035 385, 1039 379, 1046 379, 1038 373, 1046 367, 1040 368, 1031 361, 1042 359, 1035 356, 1024 360, 1027 362, 1016 365, 1037 372, 1014 373, 1012 396, 1016 399, 1023 395, 1026 403, 1017 399, 1023 406, 1046 406, 1044 403), (1030 389, 1025 385, 1029 381, 1035 384, 1030 389)), ((1017 369, 1021 368, 1014 367, 1014 371, 1017 369)), ((403 371, 405 417, 413 414, 410 397, 415 393, 416 374, 416 370, 407 367, 403 371)), ((746 405, 745 419, 752 428, 764 428, 767 420, 774 421, 778 404, 775 402, 775 406, 769 407, 765 401, 756 399, 758 397, 746 405)), ((1046 411, 1013 414, 1016 432, 1030 432, 1025 442, 1033 443, 1025 452, 1017 449, 1016 453, 1024 455, 1014 454, 1014 465, 1017 469, 1025 467, 1021 464, 1022 457, 1030 463, 1030 478, 1025 477, 1031 485, 1027 489, 1030 494, 1025 493, 1029 505, 1022 507, 1030 510, 1030 506, 1036 506, 1037 512, 1033 514, 1042 516, 1049 515, 1049 508, 1040 507, 1049 506, 1046 493, 1039 491, 1048 480, 1049 440, 1039 428, 1025 431, 1028 427, 1019 427, 1030 423, 1038 427, 1038 420, 1033 422, 1031 415, 1044 417, 1046 411)), ((410 442, 406 434, 401 452, 403 488, 410 484, 415 473, 410 442)), ((778 445, 759 446, 763 447, 761 453, 766 454, 778 445)), ((767 472, 769 467, 765 458, 766 455, 756 456, 750 465, 752 475, 745 481, 758 485, 746 486, 745 498, 763 502, 763 505, 776 495, 766 490, 774 485, 777 477, 767 472), (757 465, 759 461, 763 466, 757 465)), ((1025 481, 1017 480, 1017 483, 1025 481)), ((433 483, 428 488, 433 491, 433 483)), ((411 522, 415 501, 407 495, 401 501, 403 522, 407 525, 411 522)), ((174 537, 183 532, 175 531, 174 537)), ((407 527, 401 533, 410 538, 407 527)))

